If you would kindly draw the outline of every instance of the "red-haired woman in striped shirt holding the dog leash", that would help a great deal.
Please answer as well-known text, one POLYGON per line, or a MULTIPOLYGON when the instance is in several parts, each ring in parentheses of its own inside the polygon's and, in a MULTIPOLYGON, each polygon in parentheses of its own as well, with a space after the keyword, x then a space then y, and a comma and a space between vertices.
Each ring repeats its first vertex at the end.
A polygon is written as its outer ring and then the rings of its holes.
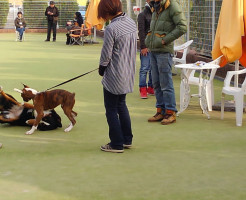
POLYGON ((110 143, 105 152, 123 153, 132 146, 132 128, 126 94, 133 91, 137 52, 137 27, 122 12, 120 0, 101 0, 98 18, 111 23, 105 28, 99 74, 103 76, 104 105, 110 143))

